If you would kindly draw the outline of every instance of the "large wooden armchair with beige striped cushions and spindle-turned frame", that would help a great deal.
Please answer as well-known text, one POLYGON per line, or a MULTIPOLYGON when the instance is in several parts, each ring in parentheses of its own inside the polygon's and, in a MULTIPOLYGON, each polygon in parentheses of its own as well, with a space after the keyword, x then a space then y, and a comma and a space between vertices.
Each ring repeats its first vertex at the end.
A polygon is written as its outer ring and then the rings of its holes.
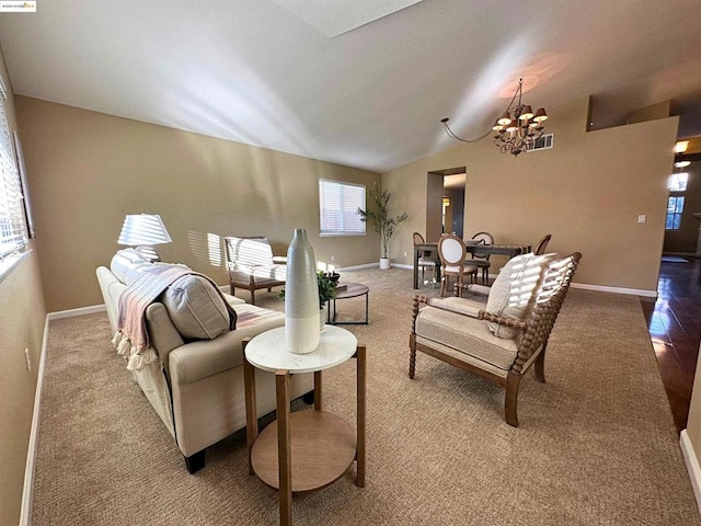
POLYGON ((505 420, 517 427, 519 382, 531 367, 536 379, 545 381, 548 340, 581 258, 578 252, 513 258, 486 304, 415 295, 409 377, 415 376, 421 351, 505 387, 505 420))

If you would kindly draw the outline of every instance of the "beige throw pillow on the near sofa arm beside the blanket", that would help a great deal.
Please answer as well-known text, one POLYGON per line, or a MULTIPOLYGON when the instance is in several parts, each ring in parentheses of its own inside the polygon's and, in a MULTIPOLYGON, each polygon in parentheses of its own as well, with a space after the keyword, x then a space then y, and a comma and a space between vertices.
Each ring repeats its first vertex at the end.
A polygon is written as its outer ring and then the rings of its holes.
POLYGON ((161 295, 161 301, 184 339, 211 340, 229 330, 229 310, 203 276, 179 277, 161 295))

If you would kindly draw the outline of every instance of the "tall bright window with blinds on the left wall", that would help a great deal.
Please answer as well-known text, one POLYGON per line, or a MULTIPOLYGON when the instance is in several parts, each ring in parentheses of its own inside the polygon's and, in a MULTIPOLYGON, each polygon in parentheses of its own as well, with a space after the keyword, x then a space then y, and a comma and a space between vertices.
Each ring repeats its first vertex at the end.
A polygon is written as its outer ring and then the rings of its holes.
POLYGON ((24 248, 27 242, 20 174, 5 115, 5 88, 0 82, 0 259, 24 248))

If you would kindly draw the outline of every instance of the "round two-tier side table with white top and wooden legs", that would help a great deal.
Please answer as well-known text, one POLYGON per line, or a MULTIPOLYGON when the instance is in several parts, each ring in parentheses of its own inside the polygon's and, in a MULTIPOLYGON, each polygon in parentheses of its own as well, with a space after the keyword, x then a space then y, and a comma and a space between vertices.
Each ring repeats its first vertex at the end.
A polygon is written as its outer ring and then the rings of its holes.
POLYGON ((249 473, 279 490, 280 524, 292 524, 292 492, 313 491, 338 480, 357 460, 356 484, 365 487, 366 350, 353 333, 326 325, 319 346, 309 354, 292 354, 285 328, 244 340, 249 473), (357 432, 342 418, 322 410, 321 371, 350 357, 357 358, 357 432), (258 435, 255 368, 275 373, 277 422, 258 435), (314 374, 314 409, 290 412, 289 375, 314 374))

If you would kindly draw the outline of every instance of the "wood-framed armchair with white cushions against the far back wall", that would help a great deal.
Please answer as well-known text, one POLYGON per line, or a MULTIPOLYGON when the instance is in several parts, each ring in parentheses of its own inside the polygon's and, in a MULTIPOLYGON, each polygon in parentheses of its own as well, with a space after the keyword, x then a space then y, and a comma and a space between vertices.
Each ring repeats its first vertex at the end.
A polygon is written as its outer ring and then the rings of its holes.
POLYGON ((237 287, 251 293, 255 305, 255 291, 285 285, 287 259, 273 255, 271 242, 265 237, 228 237, 223 240, 231 294, 237 287))

